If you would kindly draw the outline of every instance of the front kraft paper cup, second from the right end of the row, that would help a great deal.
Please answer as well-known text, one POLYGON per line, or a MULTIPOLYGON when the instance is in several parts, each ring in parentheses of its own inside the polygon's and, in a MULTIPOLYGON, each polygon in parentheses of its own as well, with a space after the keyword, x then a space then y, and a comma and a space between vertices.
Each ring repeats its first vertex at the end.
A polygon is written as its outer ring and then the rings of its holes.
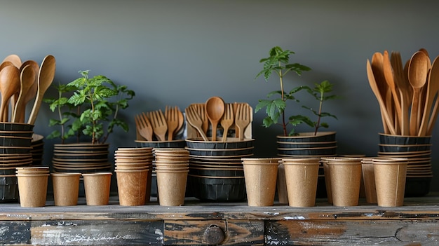
POLYGON ((334 158, 328 160, 332 204, 356 206, 360 197, 361 158, 334 158))

